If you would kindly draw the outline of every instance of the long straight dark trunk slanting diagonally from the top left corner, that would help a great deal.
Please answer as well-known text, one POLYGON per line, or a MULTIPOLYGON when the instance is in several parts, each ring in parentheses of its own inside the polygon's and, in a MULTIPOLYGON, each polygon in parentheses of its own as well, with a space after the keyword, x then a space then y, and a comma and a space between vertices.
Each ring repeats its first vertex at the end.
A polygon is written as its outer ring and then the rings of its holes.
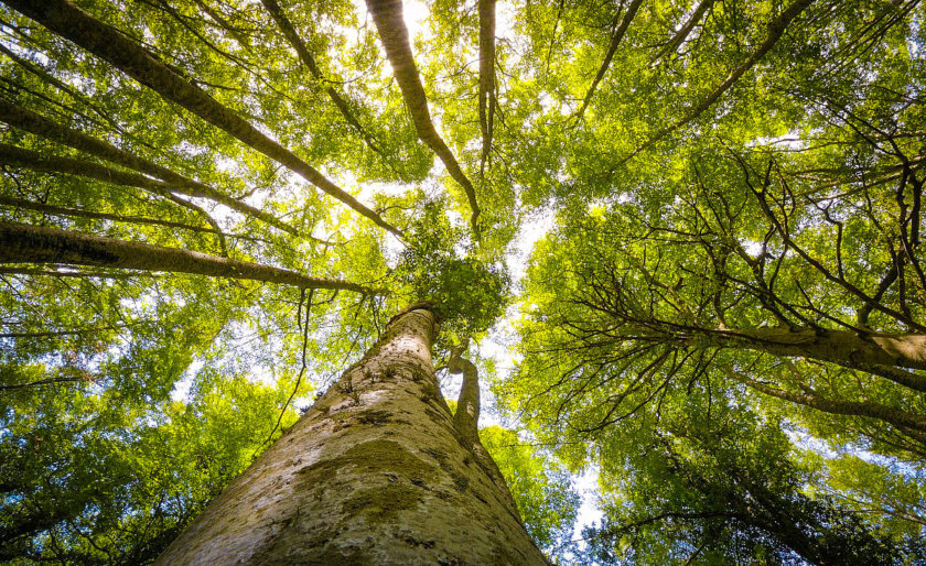
POLYGON ((246 145, 286 165, 377 226, 401 236, 398 228, 376 211, 362 205, 291 151, 261 133, 234 110, 220 105, 115 28, 94 19, 67 0, 4 0, 4 3, 112 64, 165 100, 182 106, 246 145))

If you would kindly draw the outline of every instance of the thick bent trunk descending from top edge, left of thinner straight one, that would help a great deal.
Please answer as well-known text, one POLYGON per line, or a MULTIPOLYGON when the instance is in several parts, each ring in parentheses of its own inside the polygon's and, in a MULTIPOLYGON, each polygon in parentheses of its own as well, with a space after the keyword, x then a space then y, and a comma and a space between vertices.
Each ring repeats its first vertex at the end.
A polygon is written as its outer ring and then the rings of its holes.
POLYGON ((431 151, 443 162, 450 176, 463 187, 470 200, 470 208, 473 210, 471 218, 473 231, 478 237, 480 206, 476 203, 476 192, 431 121, 428 97, 424 94, 424 87, 421 86, 421 77, 411 53, 408 29, 402 19, 402 2, 401 0, 367 0, 366 4, 376 23, 383 46, 386 48, 386 56, 392 65, 392 74, 402 91, 402 99, 411 115, 418 137, 431 148, 431 151))

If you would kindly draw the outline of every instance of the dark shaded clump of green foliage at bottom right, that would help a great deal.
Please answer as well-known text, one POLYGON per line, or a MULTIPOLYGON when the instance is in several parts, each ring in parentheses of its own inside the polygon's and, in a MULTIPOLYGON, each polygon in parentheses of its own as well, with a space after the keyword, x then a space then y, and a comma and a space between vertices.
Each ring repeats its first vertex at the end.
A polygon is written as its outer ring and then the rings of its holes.
POLYGON ((627 564, 915 564, 915 540, 893 541, 805 493, 812 475, 793 461, 780 423, 715 409, 724 425, 692 418, 604 470, 605 520, 585 531, 592 554, 627 564))

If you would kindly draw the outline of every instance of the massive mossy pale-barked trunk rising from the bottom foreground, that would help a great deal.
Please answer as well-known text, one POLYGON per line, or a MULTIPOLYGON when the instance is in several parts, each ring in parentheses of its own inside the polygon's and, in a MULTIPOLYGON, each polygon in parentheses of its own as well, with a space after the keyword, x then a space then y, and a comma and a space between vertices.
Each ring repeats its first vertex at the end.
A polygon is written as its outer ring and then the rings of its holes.
POLYGON ((157 564, 545 564, 453 426, 435 331, 394 319, 157 564))

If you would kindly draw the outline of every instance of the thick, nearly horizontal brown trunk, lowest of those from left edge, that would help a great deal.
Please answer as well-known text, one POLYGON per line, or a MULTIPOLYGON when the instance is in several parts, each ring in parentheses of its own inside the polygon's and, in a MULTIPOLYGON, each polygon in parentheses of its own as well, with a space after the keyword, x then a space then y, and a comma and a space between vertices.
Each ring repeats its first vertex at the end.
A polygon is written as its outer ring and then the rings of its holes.
POLYGON ((300 289, 381 294, 356 283, 310 277, 259 263, 19 222, 0 222, 0 263, 58 263, 165 271, 263 281, 300 289))

